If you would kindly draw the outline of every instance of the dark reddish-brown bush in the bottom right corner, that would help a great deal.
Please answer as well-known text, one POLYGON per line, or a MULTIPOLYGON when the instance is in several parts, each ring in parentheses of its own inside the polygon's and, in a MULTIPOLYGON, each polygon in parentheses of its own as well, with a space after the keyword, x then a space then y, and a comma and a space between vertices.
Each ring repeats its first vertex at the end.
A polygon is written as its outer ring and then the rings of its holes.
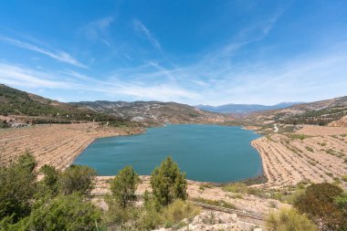
POLYGON ((334 204, 334 198, 343 190, 334 184, 321 183, 310 185, 304 194, 300 194, 294 202, 294 207, 300 213, 305 213, 317 225, 325 230, 340 230, 347 225, 342 210, 334 204))

